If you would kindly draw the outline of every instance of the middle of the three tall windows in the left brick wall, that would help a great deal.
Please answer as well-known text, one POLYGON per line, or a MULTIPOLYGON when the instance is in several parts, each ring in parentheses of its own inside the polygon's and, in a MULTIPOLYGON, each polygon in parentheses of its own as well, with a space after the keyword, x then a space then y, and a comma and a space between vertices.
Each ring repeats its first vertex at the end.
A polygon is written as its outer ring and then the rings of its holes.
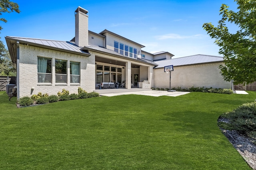
POLYGON ((67 83, 67 61, 55 60, 56 83, 67 83))

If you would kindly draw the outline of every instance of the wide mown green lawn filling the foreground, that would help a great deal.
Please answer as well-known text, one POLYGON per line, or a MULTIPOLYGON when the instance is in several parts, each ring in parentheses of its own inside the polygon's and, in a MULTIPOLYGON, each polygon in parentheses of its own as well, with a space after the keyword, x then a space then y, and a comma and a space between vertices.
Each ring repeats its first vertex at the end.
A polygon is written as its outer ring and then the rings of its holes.
POLYGON ((250 170, 217 119, 255 99, 192 92, 16 108, 0 92, 0 169, 250 170))

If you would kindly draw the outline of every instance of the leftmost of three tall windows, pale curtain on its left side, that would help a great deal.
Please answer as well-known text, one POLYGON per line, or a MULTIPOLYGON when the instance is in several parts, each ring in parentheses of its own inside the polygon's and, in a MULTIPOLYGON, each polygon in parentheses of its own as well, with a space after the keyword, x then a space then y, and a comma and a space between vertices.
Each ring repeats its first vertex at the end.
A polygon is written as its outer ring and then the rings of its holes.
POLYGON ((52 59, 37 58, 38 83, 52 82, 52 59))

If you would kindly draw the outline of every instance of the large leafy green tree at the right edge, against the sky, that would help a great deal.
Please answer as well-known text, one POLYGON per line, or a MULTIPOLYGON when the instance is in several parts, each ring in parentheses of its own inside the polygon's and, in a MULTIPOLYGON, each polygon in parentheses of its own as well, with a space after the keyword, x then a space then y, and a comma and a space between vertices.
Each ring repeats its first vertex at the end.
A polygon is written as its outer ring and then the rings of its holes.
POLYGON ((235 0, 237 12, 229 10, 222 4, 222 19, 215 27, 212 23, 204 23, 203 28, 215 39, 220 47, 225 64, 220 65, 221 74, 226 81, 234 80, 235 84, 256 81, 256 1, 235 0), (238 27, 230 33, 227 23, 238 27))

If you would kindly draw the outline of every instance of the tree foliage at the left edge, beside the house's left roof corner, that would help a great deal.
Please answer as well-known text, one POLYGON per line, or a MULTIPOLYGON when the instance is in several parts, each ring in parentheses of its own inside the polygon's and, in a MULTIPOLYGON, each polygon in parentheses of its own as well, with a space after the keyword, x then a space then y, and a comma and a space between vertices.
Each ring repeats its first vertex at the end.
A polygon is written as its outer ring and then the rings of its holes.
MULTIPOLYGON (((10 0, 0 0, 0 15, 4 12, 18 12, 20 13, 18 4, 10 2, 10 0)), ((0 21, 7 22, 5 18, 0 18, 0 21)), ((2 30, 0 26, 0 30, 2 30)), ((4 47, 2 41, 0 41, 0 75, 1 76, 15 76, 16 69, 12 66, 12 61, 8 50, 4 47)))

